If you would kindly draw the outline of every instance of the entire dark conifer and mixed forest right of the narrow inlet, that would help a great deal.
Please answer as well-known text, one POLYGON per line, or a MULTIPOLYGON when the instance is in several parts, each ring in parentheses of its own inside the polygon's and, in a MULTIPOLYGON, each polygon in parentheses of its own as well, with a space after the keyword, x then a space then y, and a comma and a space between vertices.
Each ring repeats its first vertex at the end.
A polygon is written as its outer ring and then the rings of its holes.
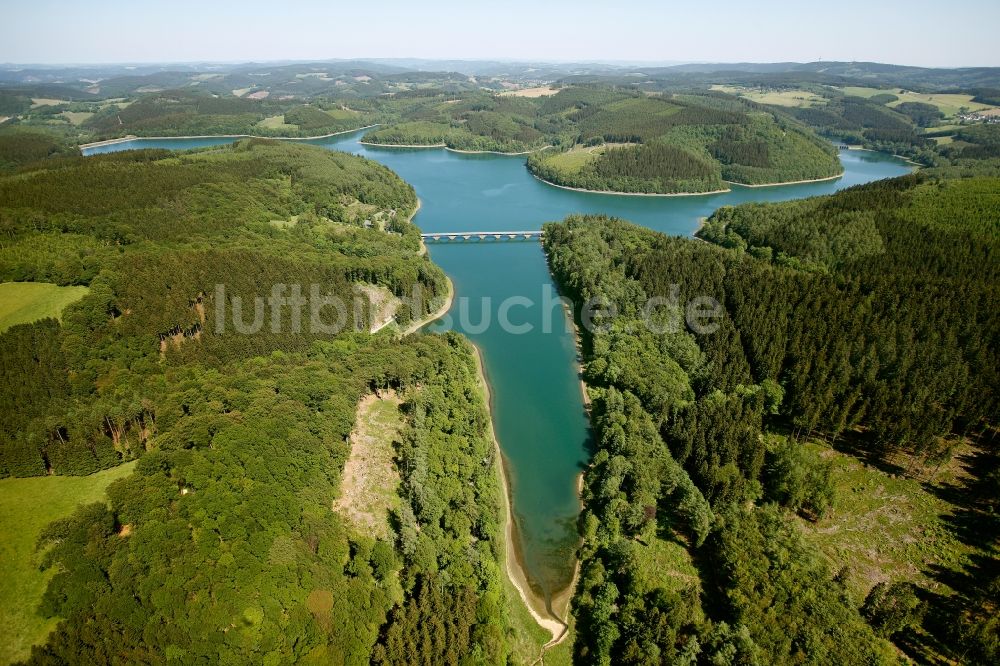
POLYGON ((614 306, 584 332, 579 660, 895 663, 888 639, 995 663, 998 192, 916 175, 727 207, 710 243, 601 217, 546 226, 563 292, 614 306), (668 304, 644 312, 654 296, 668 304), (699 296, 722 305, 713 332, 683 324, 699 296), (966 451, 969 477, 928 489, 976 555, 853 579, 800 527, 844 501, 806 441, 901 477, 966 451))

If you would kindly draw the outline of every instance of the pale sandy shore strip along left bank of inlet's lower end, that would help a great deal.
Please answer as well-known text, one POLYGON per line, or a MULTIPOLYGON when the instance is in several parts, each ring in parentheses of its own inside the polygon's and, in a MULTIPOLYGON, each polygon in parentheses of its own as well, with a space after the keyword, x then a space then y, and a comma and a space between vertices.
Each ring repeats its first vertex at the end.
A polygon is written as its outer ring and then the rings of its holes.
MULTIPOLYGON (((470 343, 472 344, 472 343, 470 343)), ((479 386, 483 392, 483 398, 486 400, 486 405, 490 411, 490 423, 489 423, 489 435, 493 440, 493 447, 496 451, 498 465, 497 474, 500 477, 500 482, 503 486, 503 503, 504 503, 504 541, 505 541, 505 565, 507 569, 507 577, 510 579, 511 584, 517 590, 518 594, 521 596, 521 600, 527 607, 528 612, 535 619, 535 622, 539 624, 542 628, 546 629, 552 634, 552 640, 543 646, 542 650, 556 645, 558 642, 563 640, 568 633, 569 625, 563 622, 558 617, 552 615, 548 609, 545 607, 545 600, 534 593, 531 586, 528 584, 528 577, 525 574, 524 567, 521 564, 520 558, 517 554, 517 548, 514 542, 514 515, 511 509, 511 490, 510 490, 510 479, 507 475, 507 461, 503 455, 503 449, 500 448, 500 441, 497 439, 496 432, 493 430, 493 394, 490 389, 489 380, 486 379, 486 371, 483 365, 482 351, 475 344, 472 344, 475 350, 475 360, 476 360, 476 373, 479 376, 479 386)), ((574 576, 575 578, 575 576, 574 576)))

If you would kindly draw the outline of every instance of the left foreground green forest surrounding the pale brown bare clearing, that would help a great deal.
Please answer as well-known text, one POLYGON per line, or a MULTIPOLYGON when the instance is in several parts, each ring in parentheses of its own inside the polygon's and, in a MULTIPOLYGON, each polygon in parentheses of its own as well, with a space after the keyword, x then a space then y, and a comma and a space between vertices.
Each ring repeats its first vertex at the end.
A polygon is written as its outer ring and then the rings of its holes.
POLYGON ((29 663, 504 663, 500 489, 467 343, 346 336, 149 381, 136 472, 42 535, 58 573, 40 612, 64 619, 29 663), (390 387, 409 472, 385 540, 330 503, 355 404, 390 387))

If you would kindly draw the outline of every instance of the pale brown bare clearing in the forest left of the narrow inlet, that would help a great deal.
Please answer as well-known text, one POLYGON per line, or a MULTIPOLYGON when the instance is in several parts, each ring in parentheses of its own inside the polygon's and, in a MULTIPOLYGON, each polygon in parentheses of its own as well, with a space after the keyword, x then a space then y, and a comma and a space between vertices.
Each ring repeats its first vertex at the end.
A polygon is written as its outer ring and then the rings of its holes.
POLYGON ((358 530, 380 538, 389 537, 389 511, 400 502, 394 460, 404 425, 402 402, 395 391, 361 398, 340 497, 333 503, 358 530))

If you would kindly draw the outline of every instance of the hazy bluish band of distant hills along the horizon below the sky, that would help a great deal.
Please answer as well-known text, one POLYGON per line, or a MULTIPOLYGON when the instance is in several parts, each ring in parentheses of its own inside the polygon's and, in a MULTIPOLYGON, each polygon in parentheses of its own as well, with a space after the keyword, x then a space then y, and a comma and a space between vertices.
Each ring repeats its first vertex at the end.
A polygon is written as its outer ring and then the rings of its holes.
POLYGON ((263 63, 161 63, 113 65, 0 65, 0 88, 58 85, 101 97, 194 86, 217 93, 257 87, 272 94, 371 96, 391 92, 386 80, 442 82, 492 87, 497 81, 602 82, 652 87, 713 83, 774 84, 812 82, 831 85, 885 85, 918 90, 1000 87, 1000 68, 910 67, 874 62, 688 63, 656 65, 622 62, 514 62, 502 60, 279 61, 263 63), (356 85, 354 77, 368 77, 356 85))

